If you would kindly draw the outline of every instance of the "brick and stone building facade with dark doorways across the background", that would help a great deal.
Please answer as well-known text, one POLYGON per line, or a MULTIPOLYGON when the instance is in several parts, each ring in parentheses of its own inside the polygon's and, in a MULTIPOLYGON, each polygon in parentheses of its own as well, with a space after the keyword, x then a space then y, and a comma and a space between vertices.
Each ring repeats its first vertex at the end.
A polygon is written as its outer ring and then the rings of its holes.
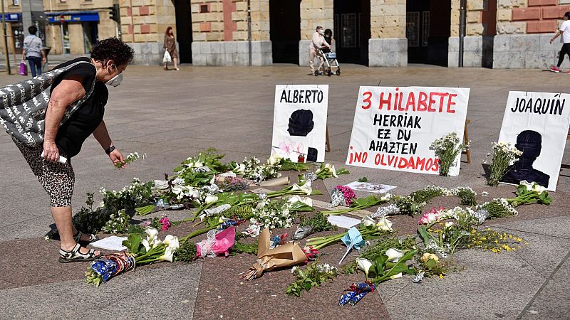
MULTIPOLYGON (((97 36, 118 35, 135 49, 135 63, 156 65, 168 26, 182 63, 308 65, 316 26, 333 31, 341 63, 456 67, 460 0, 43 0, 47 14, 98 13, 97 36), (108 7, 120 5, 120 25, 108 7), (249 4, 249 8, 248 8, 249 4)), ((9 8, 11 9, 11 8, 9 8)), ((467 0, 464 65, 546 68, 559 44, 548 40, 570 0, 467 0)), ((53 53, 86 53, 86 23, 54 20, 46 27, 53 53), (65 46, 66 40, 69 45, 65 46), (63 46, 62 46, 63 43, 63 46)))

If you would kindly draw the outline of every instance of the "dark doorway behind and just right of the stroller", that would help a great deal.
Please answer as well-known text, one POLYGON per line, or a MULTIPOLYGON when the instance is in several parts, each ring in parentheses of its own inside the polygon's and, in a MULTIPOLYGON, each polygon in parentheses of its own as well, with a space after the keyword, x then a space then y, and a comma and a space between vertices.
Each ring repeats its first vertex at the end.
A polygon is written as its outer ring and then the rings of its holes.
POLYGON ((370 0, 334 0, 336 55, 340 63, 368 65, 370 0))

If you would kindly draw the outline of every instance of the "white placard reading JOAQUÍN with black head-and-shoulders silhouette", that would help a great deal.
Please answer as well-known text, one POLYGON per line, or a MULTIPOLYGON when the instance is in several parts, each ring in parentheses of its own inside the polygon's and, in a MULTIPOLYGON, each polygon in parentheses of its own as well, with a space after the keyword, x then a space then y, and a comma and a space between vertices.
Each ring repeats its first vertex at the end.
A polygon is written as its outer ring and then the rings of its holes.
POLYGON ((556 191, 570 126, 569 98, 560 93, 509 92, 499 142, 510 142, 523 154, 501 181, 535 181, 556 191))

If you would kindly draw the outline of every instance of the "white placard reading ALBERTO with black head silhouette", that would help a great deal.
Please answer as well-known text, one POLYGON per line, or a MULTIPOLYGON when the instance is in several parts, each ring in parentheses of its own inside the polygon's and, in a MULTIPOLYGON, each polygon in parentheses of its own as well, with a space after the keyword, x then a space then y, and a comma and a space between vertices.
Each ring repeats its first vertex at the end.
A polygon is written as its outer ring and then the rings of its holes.
POLYGON ((328 85, 276 85, 271 154, 325 161, 328 85))

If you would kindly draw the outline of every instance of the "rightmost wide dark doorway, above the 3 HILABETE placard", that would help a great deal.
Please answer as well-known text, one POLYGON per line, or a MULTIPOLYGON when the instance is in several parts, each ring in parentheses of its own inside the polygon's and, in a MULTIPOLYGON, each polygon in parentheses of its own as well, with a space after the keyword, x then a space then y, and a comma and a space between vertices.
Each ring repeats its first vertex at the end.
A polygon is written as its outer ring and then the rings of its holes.
POLYGON ((447 67, 451 0, 406 1, 408 63, 447 67))

